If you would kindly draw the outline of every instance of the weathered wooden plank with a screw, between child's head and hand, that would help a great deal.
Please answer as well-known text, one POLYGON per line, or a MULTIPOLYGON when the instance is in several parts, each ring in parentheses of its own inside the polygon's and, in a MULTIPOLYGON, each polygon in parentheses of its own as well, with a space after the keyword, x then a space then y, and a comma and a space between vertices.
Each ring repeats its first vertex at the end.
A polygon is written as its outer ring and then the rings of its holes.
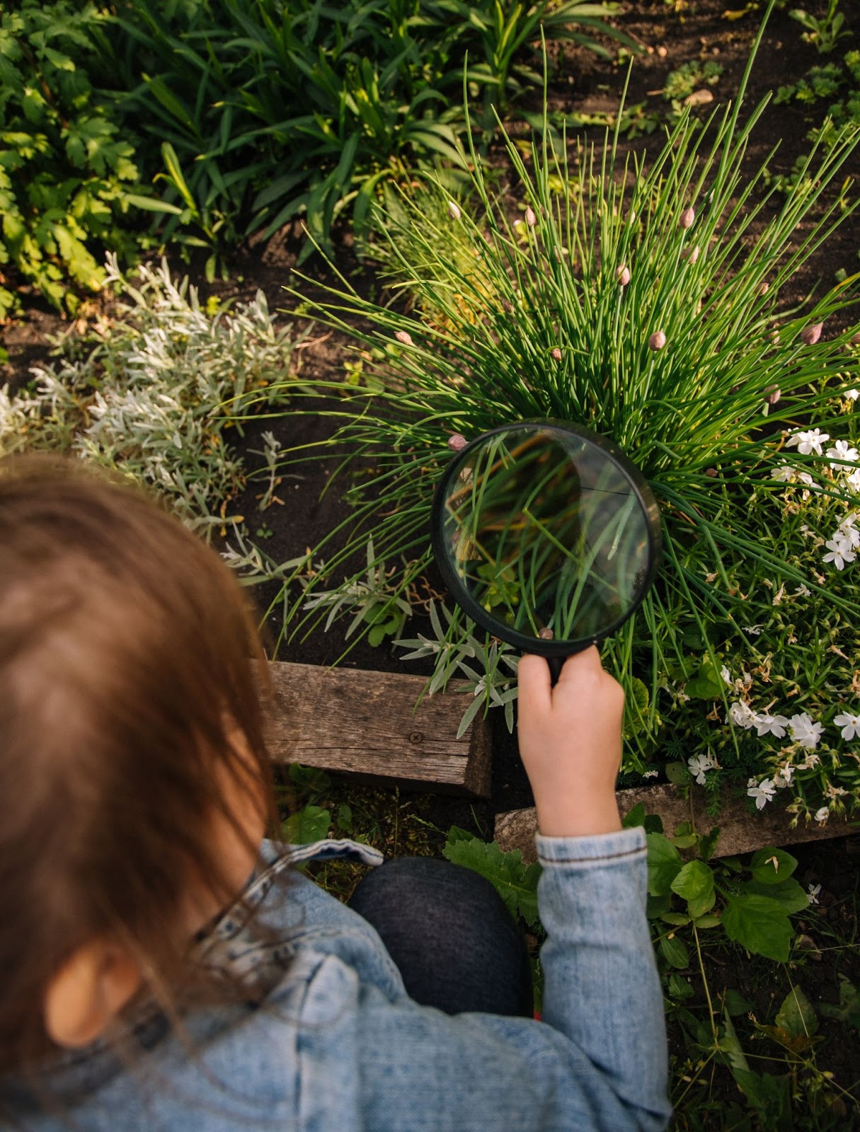
POLYGON ((489 728, 457 738, 466 701, 450 691, 416 701, 420 676, 271 661, 272 760, 369 781, 489 797, 489 728))

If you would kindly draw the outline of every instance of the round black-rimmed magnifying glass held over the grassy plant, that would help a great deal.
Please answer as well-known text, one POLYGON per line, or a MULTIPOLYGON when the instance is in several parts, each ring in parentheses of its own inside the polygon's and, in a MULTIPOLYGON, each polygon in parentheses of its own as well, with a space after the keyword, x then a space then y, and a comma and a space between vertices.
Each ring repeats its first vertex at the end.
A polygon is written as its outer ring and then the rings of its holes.
POLYGON ((433 552, 482 628, 550 661, 610 636, 659 563, 659 512, 612 441, 562 421, 504 424, 455 454, 436 488, 433 552))

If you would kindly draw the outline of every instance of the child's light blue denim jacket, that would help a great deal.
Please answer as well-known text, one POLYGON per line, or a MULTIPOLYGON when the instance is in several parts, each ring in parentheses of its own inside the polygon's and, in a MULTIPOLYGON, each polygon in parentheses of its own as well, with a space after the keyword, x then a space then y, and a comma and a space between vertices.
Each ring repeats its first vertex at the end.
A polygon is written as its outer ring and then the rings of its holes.
POLYGON ((37 1087, 0 1082, 3 1127, 39 1132, 591 1132, 665 1127, 663 998, 645 917, 640 829, 544 838, 543 1020, 448 1015, 408 997, 374 931, 292 865, 378 864, 350 841, 289 852, 264 842, 246 889, 265 937, 228 910, 206 962, 258 995, 194 1011, 184 1032, 153 1012, 129 1058, 104 1043, 66 1054, 37 1087), (9 1121, 9 1123, 7 1123, 9 1121))

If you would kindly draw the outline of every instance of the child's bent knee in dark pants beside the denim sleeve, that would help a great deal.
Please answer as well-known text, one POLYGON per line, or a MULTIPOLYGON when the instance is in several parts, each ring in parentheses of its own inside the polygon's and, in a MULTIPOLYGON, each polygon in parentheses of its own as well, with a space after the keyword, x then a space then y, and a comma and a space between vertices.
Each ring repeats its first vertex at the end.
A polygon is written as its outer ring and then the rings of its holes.
POLYGON ((526 942, 493 885, 431 857, 373 869, 350 907, 382 937, 411 998, 448 1014, 531 1018, 526 942))

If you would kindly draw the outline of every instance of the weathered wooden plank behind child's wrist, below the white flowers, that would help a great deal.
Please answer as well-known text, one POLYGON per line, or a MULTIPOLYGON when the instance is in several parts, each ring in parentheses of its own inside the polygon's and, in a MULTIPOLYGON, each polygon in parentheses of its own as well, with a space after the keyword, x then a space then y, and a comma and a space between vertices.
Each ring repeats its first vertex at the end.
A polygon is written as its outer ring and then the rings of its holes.
MULTIPOLYGON (((674 787, 667 784, 641 787, 633 790, 618 791, 619 808, 622 814, 640 803, 646 814, 659 814, 663 827, 671 835, 681 822, 692 817, 696 829, 707 833, 718 825, 721 829, 717 842, 717 857, 732 857, 734 854, 752 852, 765 846, 787 846, 801 841, 818 841, 825 838, 844 837, 855 832, 855 827, 845 821, 831 817, 824 825, 817 822, 798 822, 791 829, 791 815, 772 806, 751 815, 741 798, 723 798, 719 817, 709 817, 705 813, 705 791, 693 790, 690 799, 681 798, 674 787)), ((506 814, 497 814, 495 820, 495 839, 502 849, 520 849, 522 859, 533 861, 535 856, 535 830, 537 821, 534 808, 513 809, 506 814)))

